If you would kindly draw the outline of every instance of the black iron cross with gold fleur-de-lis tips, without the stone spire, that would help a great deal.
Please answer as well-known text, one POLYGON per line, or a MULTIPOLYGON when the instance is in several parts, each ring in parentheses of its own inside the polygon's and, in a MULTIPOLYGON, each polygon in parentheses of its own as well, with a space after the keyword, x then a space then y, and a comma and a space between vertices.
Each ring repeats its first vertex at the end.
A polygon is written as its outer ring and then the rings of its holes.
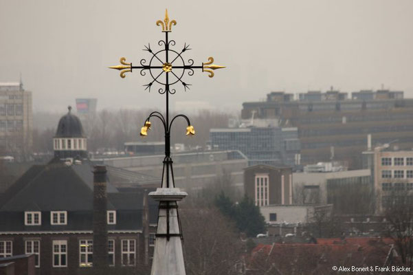
POLYGON ((116 65, 109 67, 111 69, 118 69, 120 70, 120 77, 125 78, 125 74, 127 72, 133 72, 133 69, 140 69, 140 74, 142 76, 146 76, 146 73, 149 72, 150 76, 153 78, 150 83, 144 85, 145 90, 153 87, 155 83, 163 86, 163 88, 159 88, 159 94, 166 94, 166 116, 162 115, 158 111, 154 111, 150 113, 148 118, 146 118, 144 122, 144 126, 141 129, 140 135, 146 136, 148 135, 148 130, 150 129, 150 118, 158 118, 161 120, 162 124, 164 125, 165 130, 165 159, 164 159, 164 173, 166 175, 166 182, 164 182, 164 177, 162 178, 161 187, 175 187, 175 183, 173 182, 173 172, 172 172, 172 159, 170 158, 170 127, 172 126, 172 122, 174 122, 175 118, 184 118, 186 122, 188 122, 188 127, 186 128, 186 135, 194 135, 195 130, 194 127, 191 126, 190 120, 186 115, 179 114, 175 115, 174 118, 169 122, 169 94, 175 94, 176 90, 171 89, 172 85, 176 83, 181 83, 183 86, 184 91, 186 89, 190 89, 190 84, 183 81, 183 75, 185 72, 188 72, 189 76, 193 76, 194 69, 201 69, 202 72, 208 72, 208 76, 210 78, 214 77, 214 70, 225 68, 224 66, 215 65, 214 58, 209 57, 207 63, 202 63, 201 65, 194 65, 194 61, 192 59, 188 60, 188 63, 183 59, 182 55, 184 52, 191 50, 189 45, 186 43, 183 45, 183 48, 180 52, 173 50, 171 47, 175 46, 174 40, 168 39, 168 34, 172 32, 172 26, 177 25, 177 21, 170 20, 168 17, 168 10, 165 12, 164 20, 156 21, 156 25, 161 26, 162 32, 165 33, 165 40, 161 40, 158 42, 159 46, 164 46, 161 50, 154 52, 150 48, 150 44, 148 46, 145 45, 144 51, 149 52, 152 54, 150 56, 150 61, 148 65, 146 65, 146 59, 141 59, 139 62, 139 66, 133 66, 132 63, 127 63, 126 58, 120 58, 121 65, 116 65), (161 80, 161 76, 165 74, 164 80, 161 80), (165 174, 166 173, 166 174, 165 174), (172 174, 172 186, 170 186, 170 173, 172 174), (164 186, 165 185, 165 186, 164 186))

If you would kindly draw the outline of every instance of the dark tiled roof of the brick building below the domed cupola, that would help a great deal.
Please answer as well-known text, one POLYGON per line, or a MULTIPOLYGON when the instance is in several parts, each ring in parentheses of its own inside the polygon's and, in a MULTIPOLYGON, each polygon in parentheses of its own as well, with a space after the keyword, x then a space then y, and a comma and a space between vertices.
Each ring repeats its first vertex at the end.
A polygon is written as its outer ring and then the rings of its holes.
MULTIPOLYGON (((141 230, 144 195, 154 190, 119 192, 107 182, 107 209, 116 210, 117 224, 108 230, 141 230)), ((32 166, 0 201, 0 231, 77 231, 93 228, 93 173, 90 162, 32 166), (41 211, 41 225, 24 225, 24 212, 41 211), (67 211, 67 225, 51 225, 50 211, 67 211)), ((157 221, 157 202, 148 198, 150 223, 157 221)))

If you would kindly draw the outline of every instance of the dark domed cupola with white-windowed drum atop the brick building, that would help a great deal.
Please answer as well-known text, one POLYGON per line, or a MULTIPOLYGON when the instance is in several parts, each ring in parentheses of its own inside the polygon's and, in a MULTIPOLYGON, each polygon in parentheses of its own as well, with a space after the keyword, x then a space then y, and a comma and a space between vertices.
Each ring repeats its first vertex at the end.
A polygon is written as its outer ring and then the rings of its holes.
POLYGON ((82 123, 69 111, 59 120, 56 135, 53 138, 54 157, 65 159, 87 158, 87 137, 83 133, 82 123))

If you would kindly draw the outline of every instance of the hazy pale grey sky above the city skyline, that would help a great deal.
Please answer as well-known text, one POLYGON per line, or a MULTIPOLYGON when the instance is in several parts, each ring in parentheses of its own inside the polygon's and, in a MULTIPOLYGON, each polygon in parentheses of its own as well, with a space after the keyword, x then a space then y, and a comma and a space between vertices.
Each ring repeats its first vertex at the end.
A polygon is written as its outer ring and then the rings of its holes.
POLYGON ((121 56, 138 64, 164 39, 155 21, 177 25, 170 38, 189 43, 201 65, 208 56, 227 69, 214 78, 186 76, 174 101, 205 101, 241 109, 269 91, 308 89, 405 91, 413 97, 413 1, 86 1, 0 0, 0 82, 33 93, 34 111, 65 111, 74 98, 98 98, 98 108, 164 107, 142 85, 148 76, 107 69, 121 56))

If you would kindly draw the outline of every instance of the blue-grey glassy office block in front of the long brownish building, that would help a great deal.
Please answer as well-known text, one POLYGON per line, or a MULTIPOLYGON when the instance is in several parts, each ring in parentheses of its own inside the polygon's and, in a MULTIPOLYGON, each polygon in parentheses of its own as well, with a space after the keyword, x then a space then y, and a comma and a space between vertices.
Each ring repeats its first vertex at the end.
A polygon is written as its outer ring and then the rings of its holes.
POLYGON ((300 140, 296 127, 210 129, 210 140, 212 148, 243 152, 248 157, 249 166, 300 164, 300 140))

